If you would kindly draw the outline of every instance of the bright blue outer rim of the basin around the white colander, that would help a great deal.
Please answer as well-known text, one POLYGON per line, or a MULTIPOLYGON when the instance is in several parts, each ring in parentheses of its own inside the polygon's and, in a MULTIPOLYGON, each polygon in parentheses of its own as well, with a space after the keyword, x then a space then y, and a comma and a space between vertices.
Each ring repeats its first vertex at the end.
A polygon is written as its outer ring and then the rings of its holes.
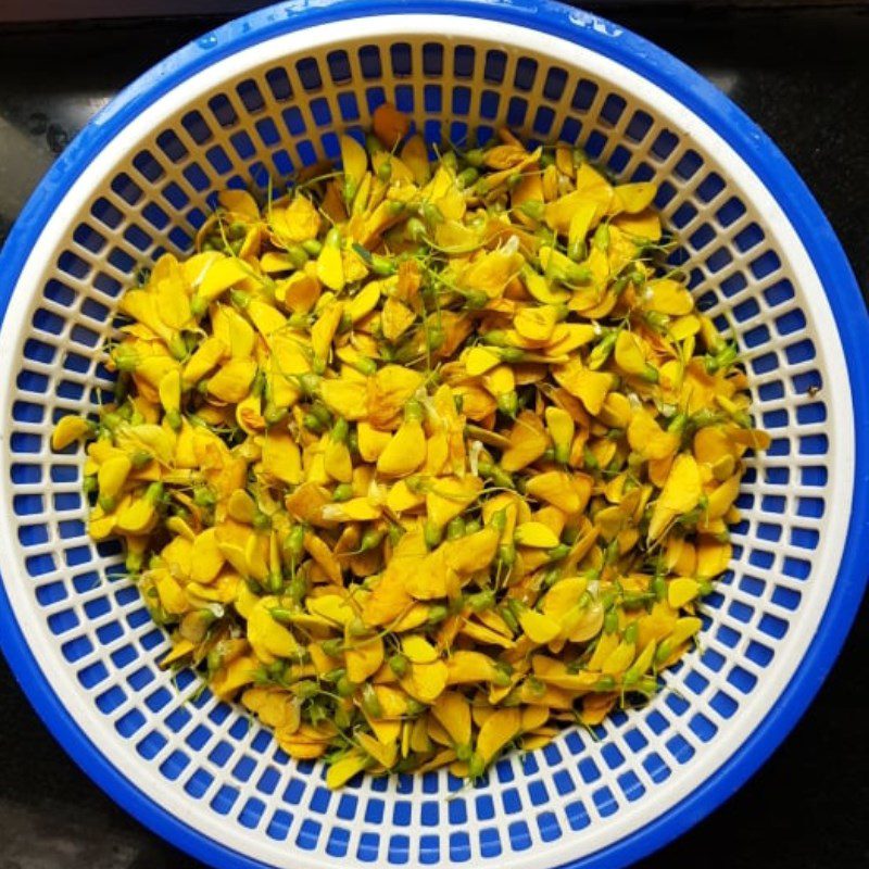
MULTIPOLYGON (((855 423, 852 516, 839 576, 802 666, 774 708, 714 774, 640 830, 564 869, 615 869, 670 842, 730 797, 792 730, 820 689, 845 641, 867 583, 869 554, 869 314, 842 247, 808 188, 778 147, 698 73, 596 15, 553 0, 294 0, 252 12, 203 35, 125 88, 52 165, 0 252, 0 322, 46 221, 91 160, 143 109, 217 60, 282 34, 336 21, 383 14, 452 14, 514 24, 584 46, 664 88, 709 124, 752 167, 799 235, 824 287, 842 340, 855 423), (858 543, 855 544, 855 541, 858 543)), ((0 577, 0 579, 2 579, 0 577)), ((0 648, 43 722, 78 766, 139 821, 191 856, 226 869, 269 869, 178 820, 126 779, 85 735, 55 695, 28 647, 0 581, 0 648)))

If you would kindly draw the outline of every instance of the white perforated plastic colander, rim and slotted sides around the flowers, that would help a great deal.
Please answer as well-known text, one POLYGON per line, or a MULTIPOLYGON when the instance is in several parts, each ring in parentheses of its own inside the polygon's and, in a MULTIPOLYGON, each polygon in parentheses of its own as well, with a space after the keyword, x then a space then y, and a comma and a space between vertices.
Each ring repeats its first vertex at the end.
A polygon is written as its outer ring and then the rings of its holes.
MULTIPOLYGON (((111 117, 110 110, 101 122, 111 117)), ((530 121, 527 135, 533 135, 530 121)), ((0 345, 13 361, 0 379, 0 434, 11 444, 3 456, 11 483, 2 494, 0 552, 12 614, 42 678, 83 734, 143 797, 226 848, 222 865, 294 867, 303 860, 337 869, 373 860, 470 860, 475 866, 496 860, 504 869, 549 869, 602 853, 672 810, 726 765, 770 713, 813 641, 842 561, 855 477, 851 380, 827 294, 791 222, 725 138, 664 89, 601 53, 513 24, 449 14, 327 23, 259 42, 178 81, 119 129, 45 223, 10 299, 0 345), (442 72, 423 76, 425 46, 432 43, 443 47, 442 72), (375 45, 382 49, 382 72, 366 78, 358 52, 375 45), (413 74, 389 68, 389 47, 395 45, 408 47, 413 74), (456 46, 473 49, 470 75, 448 60, 456 46), (306 93, 294 64, 314 59, 326 70, 335 50, 350 59, 347 84, 330 86, 324 75, 322 92, 306 93), (482 61, 491 50, 507 58, 504 80, 494 86, 487 83, 482 61), (524 80, 516 85, 524 59, 539 65, 528 90, 524 80), (568 86, 551 99, 543 91, 552 76, 544 72, 553 67, 567 74, 568 86), (275 68, 287 71, 297 99, 281 103, 268 96, 265 74, 275 68), (250 113, 236 89, 248 79, 267 96, 265 108, 250 113), (597 88, 581 110, 571 105, 571 86, 580 79, 597 88), (431 85, 442 89, 437 111, 425 108, 424 90, 431 85), (93 341, 89 336, 78 341, 75 330, 85 328, 102 340, 111 331, 113 304, 111 294, 95 289, 93 275, 129 279, 156 247, 176 249, 169 229, 181 226, 190 234, 185 215, 193 207, 204 212, 207 196, 228 177, 194 150, 180 123, 191 109, 211 117, 207 101, 215 95, 228 97, 236 125, 206 124, 212 138, 200 150, 222 144, 232 172, 249 179, 252 161, 269 165, 269 155, 280 148, 291 151, 298 165, 304 159, 299 143, 306 138, 320 153, 324 146, 314 131, 345 126, 339 91, 356 95, 361 118, 352 125, 365 126, 368 89, 381 87, 392 99, 403 86, 414 90, 412 114, 420 128, 432 118, 446 123, 448 95, 455 97, 457 88, 471 93, 462 122, 471 130, 498 126, 507 117, 507 97, 514 93, 532 109, 551 105, 555 133, 558 119, 581 117, 580 141, 588 142, 595 133, 604 139, 602 162, 614 162, 618 148, 627 147, 625 177, 646 166, 657 180, 671 185, 663 212, 679 227, 691 256, 688 266, 698 274, 693 291, 711 302, 713 315, 726 311, 735 319, 759 421, 770 428, 773 449, 750 462, 753 471, 742 489, 744 520, 734 534, 732 572, 714 595, 703 651, 666 677, 677 693, 665 692, 650 707, 606 722, 599 742, 566 732, 550 748, 508 758, 471 790, 457 790, 458 783, 441 773, 425 780, 366 778, 344 794, 328 795, 319 765, 295 765, 276 755, 266 731, 254 726, 242 732, 243 714, 210 695, 196 704, 185 702, 193 685, 187 682, 190 687, 178 691, 159 670, 155 662, 165 641, 137 615, 141 604, 125 579, 91 585, 80 581, 90 571, 103 574, 118 556, 87 540, 80 499, 75 506, 64 500, 80 490, 83 452, 52 453, 49 434, 60 413, 92 410, 98 354, 91 349, 88 356, 86 348, 93 341), (495 116, 475 116, 480 110, 477 95, 493 88, 502 95, 495 116), (613 95, 621 105, 617 113, 608 108, 613 95), (312 114, 316 96, 331 109, 331 124, 312 114), (288 106, 299 110, 302 130, 294 137, 285 134, 274 147, 260 144, 255 123, 279 119, 288 106), (651 124, 632 141, 626 131, 641 114, 651 124), (162 161, 165 174, 149 187, 134 158, 142 149, 160 156, 154 142, 167 129, 182 139, 189 160, 162 161), (238 130, 249 133, 255 158, 234 151, 231 136, 238 130), (665 133, 673 138, 672 147, 656 153, 665 133), (700 163, 691 158, 688 168, 693 171, 679 172, 687 154, 698 156, 700 163), (185 174, 194 159, 207 176, 201 190, 185 174), (121 189, 113 181, 122 173, 135 178, 143 192, 135 204, 112 192, 121 189), (704 199, 704 184, 713 176, 722 186, 704 199), (161 193, 168 182, 189 198, 177 213, 161 193), (114 227, 99 218, 95 223, 95 202, 106 198, 122 212, 114 227), (735 212, 728 212, 728 223, 721 215, 730 201, 743 211, 732 221, 735 212), (141 250, 130 227, 141 226, 149 203, 168 212, 171 223, 163 231, 146 226, 151 243, 141 250), (689 216, 683 219, 684 214, 689 216), (96 226, 108 243, 89 250, 76 236, 81 226, 96 226), (752 227, 760 229, 759 238, 747 234, 752 227), (743 236, 752 242, 744 249, 743 236), (134 260, 135 265, 125 270, 112 262, 110 249, 127 254, 118 262, 134 260), (64 265, 64 252, 84 261, 88 272, 77 275, 64 265), (74 299, 65 301, 56 285, 72 290, 74 299), (48 357, 46 351, 43 358, 33 348, 28 351, 33 339, 58 352, 48 357), (87 360, 84 369, 67 364, 71 351, 87 360), (43 379, 22 380, 23 371, 43 379), (61 388, 64 382, 80 386, 80 394, 61 388), (25 405, 41 408, 41 415, 23 413, 25 405), (25 465, 38 474, 16 479, 13 466, 25 465), (39 528, 45 530, 34 530, 39 528), (86 645, 89 650, 79 655, 86 645), (102 678, 91 682, 91 675, 83 676, 95 668, 99 672, 100 666, 102 678), (139 672, 147 678, 137 681, 139 672), (149 705, 158 696, 162 705, 149 705), (196 736, 200 731, 207 733, 201 743, 196 736), (143 750, 151 734, 158 734, 155 742, 143 750), (199 773, 200 783, 191 786, 199 773), (336 837, 336 830, 343 832, 336 837)))

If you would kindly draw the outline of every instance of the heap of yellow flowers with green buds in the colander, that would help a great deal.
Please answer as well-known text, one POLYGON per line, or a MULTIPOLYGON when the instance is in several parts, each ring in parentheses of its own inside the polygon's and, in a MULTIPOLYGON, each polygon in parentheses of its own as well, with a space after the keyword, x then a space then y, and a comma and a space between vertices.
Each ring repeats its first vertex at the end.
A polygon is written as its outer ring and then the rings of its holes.
POLYGON ((655 193, 506 130, 431 158, 390 105, 340 168, 223 192, 123 297, 116 402, 53 433, 165 664, 331 786, 654 694, 768 444, 655 193))

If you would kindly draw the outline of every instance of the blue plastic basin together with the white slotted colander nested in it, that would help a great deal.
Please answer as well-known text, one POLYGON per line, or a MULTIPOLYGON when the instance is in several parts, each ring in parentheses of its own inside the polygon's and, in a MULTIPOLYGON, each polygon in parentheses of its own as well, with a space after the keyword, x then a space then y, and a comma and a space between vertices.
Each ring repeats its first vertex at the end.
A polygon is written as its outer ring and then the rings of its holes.
POLYGON ((869 326, 829 225, 725 97, 643 40, 547 2, 282 4, 146 75, 49 173, 0 266, 0 619, 30 700, 154 830, 219 867, 612 867, 706 814, 783 738, 865 582, 869 326), (750 461, 734 557, 673 689, 597 738, 566 731, 474 788, 448 773, 330 793, 267 730, 173 681, 119 547, 86 534, 59 416, 109 382, 98 348, 137 266, 184 252, 215 190, 264 190, 389 99, 430 141, 579 141, 660 182, 700 304, 736 324, 770 450, 750 461), (862 551, 862 552, 861 552, 862 551))

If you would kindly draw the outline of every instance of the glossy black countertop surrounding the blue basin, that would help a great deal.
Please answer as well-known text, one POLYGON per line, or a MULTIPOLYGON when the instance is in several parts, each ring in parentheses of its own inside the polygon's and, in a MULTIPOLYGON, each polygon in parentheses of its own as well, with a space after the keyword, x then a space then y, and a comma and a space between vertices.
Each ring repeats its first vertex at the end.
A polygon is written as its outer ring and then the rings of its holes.
MULTIPOLYGON (((866 294, 869 5, 761 10, 646 0, 591 8, 700 70, 776 139, 830 217, 866 294)), ((166 53, 219 23, 0 25, 0 244, 88 117, 166 53)), ((869 866, 868 618, 864 602, 830 679, 772 759, 643 869, 869 866)), ((0 869, 200 869, 78 770, 2 659, 0 722, 0 869)))

